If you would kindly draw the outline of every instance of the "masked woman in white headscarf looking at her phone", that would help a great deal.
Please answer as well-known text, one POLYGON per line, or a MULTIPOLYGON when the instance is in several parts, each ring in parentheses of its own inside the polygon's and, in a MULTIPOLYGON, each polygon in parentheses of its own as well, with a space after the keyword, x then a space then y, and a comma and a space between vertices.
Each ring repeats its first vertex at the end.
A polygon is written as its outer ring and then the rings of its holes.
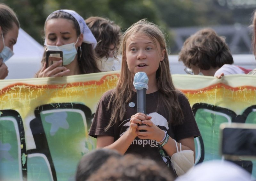
POLYGON ((46 67, 45 52, 37 77, 59 77, 100 72, 93 49, 97 41, 84 19, 72 10, 52 12, 45 20, 45 50, 61 50, 63 60, 46 67), (63 66, 61 66, 63 64, 63 66))

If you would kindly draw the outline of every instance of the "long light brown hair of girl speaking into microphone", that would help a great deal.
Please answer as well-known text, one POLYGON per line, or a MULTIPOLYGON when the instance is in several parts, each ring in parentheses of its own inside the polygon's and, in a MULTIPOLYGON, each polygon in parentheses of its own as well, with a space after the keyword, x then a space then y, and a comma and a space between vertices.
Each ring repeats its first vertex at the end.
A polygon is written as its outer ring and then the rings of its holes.
MULTIPOLYGON (((111 108, 111 117, 106 130, 119 120, 123 119, 125 107, 130 102, 132 95, 135 94, 135 92, 132 91, 133 75, 128 69, 125 54, 127 39, 134 33, 145 34, 155 44, 155 40, 157 40, 160 43, 161 50, 166 50, 164 33, 157 25, 148 22, 146 19, 139 20, 124 32, 120 47, 120 51, 122 51, 121 73, 116 88, 110 95, 107 110, 111 108)), ((159 68, 156 71, 156 81, 161 95, 159 96, 160 99, 158 101, 157 109, 159 105, 163 105, 163 107, 166 107, 165 111, 170 115, 170 120, 168 120, 168 122, 174 124, 181 123, 182 119, 184 119, 184 115, 178 101, 178 93, 180 93, 180 91, 177 91, 172 83, 167 51, 165 51, 164 60, 160 61, 159 68)))

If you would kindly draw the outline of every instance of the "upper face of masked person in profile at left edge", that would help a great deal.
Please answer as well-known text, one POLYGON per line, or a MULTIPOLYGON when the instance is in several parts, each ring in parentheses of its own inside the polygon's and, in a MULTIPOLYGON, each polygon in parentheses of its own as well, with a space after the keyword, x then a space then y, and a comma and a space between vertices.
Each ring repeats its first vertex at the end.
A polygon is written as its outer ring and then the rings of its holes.
POLYGON ((17 38, 18 38, 18 34, 19 34, 19 28, 18 26, 13 23, 12 25, 12 29, 8 30, 8 32, 4 35, 4 42, 3 42, 3 38, 2 38, 2 28, 0 31, 0 52, 2 52, 4 45, 6 47, 11 48, 11 50, 13 51, 13 45, 16 44, 17 38))

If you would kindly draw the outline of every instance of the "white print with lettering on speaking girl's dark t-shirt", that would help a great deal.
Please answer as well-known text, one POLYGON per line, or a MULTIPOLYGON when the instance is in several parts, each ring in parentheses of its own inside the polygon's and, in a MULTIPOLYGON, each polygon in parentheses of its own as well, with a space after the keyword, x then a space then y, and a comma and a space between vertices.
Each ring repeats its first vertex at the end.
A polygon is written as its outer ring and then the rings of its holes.
MULTIPOLYGON (((169 130, 169 125, 168 125, 168 121, 164 118, 164 116, 158 114, 157 112, 152 112, 150 114, 148 114, 148 116, 151 116, 151 121, 156 125, 156 126, 161 126, 161 127, 165 127, 165 130, 169 130)), ((127 127, 126 131, 129 129, 130 127, 130 121, 128 121, 127 123, 124 124, 123 127, 127 127)), ((126 132, 124 131, 122 134, 120 134, 120 137, 126 132)), ((155 140, 145 140, 145 139, 139 139, 139 140, 133 140, 132 144, 135 145, 143 145, 143 147, 145 145, 150 145, 151 147, 158 147, 158 144, 155 140)))

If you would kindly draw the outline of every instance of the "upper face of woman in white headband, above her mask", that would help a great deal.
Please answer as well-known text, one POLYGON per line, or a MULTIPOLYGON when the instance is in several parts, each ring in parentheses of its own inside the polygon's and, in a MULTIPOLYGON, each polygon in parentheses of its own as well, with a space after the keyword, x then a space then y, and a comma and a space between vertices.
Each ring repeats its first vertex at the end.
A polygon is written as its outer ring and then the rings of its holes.
MULTIPOLYGON (((47 45, 61 46, 76 43, 77 35, 72 20, 64 18, 53 18, 46 22, 45 40, 47 45)), ((76 48, 81 46, 83 38, 81 35, 76 43, 76 48)))

